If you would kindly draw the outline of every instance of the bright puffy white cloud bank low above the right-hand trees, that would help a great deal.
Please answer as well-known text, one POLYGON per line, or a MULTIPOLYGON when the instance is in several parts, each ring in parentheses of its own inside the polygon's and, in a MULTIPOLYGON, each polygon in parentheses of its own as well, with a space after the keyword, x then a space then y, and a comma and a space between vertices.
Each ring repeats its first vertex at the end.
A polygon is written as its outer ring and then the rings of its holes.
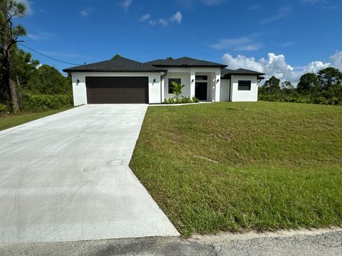
POLYGON ((274 75, 276 78, 279 78, 282 81, 286 80, 292 82, 294 85, 299 82, 299 78, 304 73, 317 73, 319 70, 331 66, 331 63, 313 61, 304 67, 294 68, 286 63, 283 54, 276 55, 274 53, 269 53, 267 58, 261 58, 259 60, 244 55, 237 55, 237 57, 234 58, 229 53, 226 53, 222 56, 222 60, 228 65, 227 68, 229 69, 235 70, 237 68, 246 68, 255 70, 265 73, 266 79, 274 75))

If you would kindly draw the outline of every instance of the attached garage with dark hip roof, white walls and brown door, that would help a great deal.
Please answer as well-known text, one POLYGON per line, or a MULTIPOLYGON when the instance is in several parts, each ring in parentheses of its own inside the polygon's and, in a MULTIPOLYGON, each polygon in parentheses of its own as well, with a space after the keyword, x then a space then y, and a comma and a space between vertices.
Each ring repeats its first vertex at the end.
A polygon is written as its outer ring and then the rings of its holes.
POLYGON ((165 68, 115 56, 110 60, 63 70, 73 81, 73 104, 162 102, 165 68))

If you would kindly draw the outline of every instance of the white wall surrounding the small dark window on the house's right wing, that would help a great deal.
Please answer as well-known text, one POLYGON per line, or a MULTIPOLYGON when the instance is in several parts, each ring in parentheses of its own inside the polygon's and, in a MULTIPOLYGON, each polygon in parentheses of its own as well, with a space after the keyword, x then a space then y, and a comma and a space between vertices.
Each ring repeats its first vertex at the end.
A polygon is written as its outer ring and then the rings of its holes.
POLYGON ((232 102, 255 102, 258 100, 257 75, 232 75, 232 102), (251 80, 251 90, 237 90, 239 80, 251 80))

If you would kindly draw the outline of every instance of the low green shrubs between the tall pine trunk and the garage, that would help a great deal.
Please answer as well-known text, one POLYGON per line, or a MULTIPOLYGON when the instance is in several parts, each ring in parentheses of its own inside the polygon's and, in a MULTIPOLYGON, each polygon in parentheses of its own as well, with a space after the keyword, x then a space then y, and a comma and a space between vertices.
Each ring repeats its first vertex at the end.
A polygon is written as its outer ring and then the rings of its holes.
POLYGON ((21 110, 26 112, 57 110, 71 105, 73 105, 72 95, 33 95, 24 93, 21 97, 21 110))

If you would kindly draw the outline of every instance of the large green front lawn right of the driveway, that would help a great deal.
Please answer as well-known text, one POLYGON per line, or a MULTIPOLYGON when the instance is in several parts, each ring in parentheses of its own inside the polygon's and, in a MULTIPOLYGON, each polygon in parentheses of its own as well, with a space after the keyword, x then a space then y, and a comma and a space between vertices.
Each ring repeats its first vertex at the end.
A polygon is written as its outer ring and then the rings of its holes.
POLYGON ((149 107, 130 166, 185 236, 342 225, 342 107, 149 107))

